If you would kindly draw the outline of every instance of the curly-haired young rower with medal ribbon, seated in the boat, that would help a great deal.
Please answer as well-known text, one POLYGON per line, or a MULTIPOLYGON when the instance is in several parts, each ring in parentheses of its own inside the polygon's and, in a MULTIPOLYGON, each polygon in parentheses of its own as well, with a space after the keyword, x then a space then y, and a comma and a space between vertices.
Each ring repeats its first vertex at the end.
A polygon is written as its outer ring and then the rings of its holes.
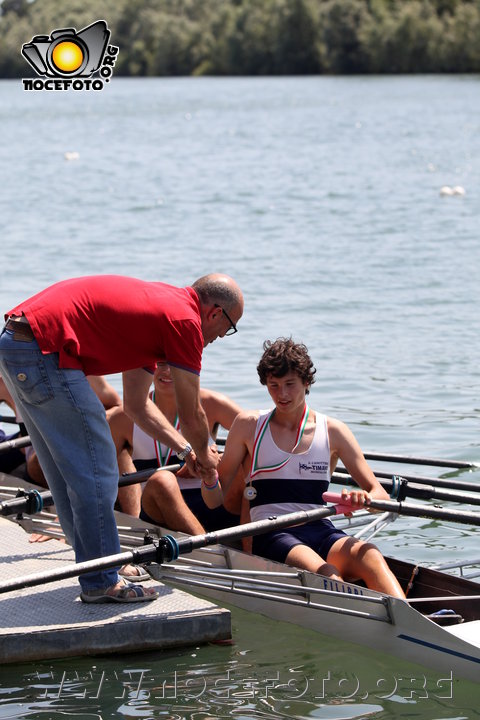
MULTIPOLYGON (((349 428, 308 407, 316 371, 305 345, 266 341, 257 371, 274 408, 235 419, 218 467, 225 502, 243 491, 252 521, 316 508, 325 504, 322 493, 338 460, 360 486, 342 490, 353 509, 388 499, 349 428), (246 459, 250 472, 242 484, 238 469, 246 459)), ((328 519, 257 535, 253 552, 335 580, 360 579, 372 590, 405 598, 375 545, 348 536, 328 519)))

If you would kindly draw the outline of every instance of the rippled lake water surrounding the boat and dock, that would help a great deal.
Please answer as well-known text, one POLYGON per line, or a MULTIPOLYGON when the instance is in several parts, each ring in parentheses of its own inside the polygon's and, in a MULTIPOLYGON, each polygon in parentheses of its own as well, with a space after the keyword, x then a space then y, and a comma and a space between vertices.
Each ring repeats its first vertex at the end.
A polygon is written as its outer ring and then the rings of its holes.
MULTIPOLYGON (((262 342, 292 335, 317 367, 310 404, 365 450, 480 462, 479 90, 477 76, 1 82, 0 308, 83 274, 227 272, 246 309, 207 349, 205 386, 268 406, 262 342)), ((478 540, 398 520, 377 544, 434 563, 478 557, 478 540)), ((0 718, 479 715, 472 684, 237 610, 233 626, 232 646, 3 668, 0 718)))

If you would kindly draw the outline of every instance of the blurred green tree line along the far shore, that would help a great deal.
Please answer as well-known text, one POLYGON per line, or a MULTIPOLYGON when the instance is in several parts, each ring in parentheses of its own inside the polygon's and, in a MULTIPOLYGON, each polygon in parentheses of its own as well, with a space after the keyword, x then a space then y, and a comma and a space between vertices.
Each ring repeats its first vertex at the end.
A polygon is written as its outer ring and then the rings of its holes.
POLYGON ((3 0, 0 77, 34 35, 106 20, 115 75, 480 72, 480 0, 3 0))

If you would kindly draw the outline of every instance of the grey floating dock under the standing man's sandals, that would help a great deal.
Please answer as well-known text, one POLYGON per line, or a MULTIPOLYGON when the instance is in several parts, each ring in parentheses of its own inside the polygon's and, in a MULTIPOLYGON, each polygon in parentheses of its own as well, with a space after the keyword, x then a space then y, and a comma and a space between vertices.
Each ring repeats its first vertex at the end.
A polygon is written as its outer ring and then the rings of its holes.
MULTIPOLYGON (((75 562, 70 546, 30 543, 0 518, 0 583, 75 562)), ((0 594, 0 663, 166 650, 231 638, 230 612, 156 581, 145 603, 85 604, 77 578, 0 594)))

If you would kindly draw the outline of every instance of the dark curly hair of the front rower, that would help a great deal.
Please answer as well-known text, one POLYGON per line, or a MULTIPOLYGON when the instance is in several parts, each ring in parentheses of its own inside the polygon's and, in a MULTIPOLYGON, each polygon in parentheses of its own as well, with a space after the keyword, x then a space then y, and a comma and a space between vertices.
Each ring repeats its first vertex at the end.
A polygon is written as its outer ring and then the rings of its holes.
POLYGON ((257 372, 262 385, 267 384, 268 375, 283 377, 288 372, 297 373, 308 387, 315 382, 317 372, 313 367, 308 350, 301 343, 294 343, 292 338, 278 338, 275 342, 265 340, 263 355, 257 365, 257 372))

